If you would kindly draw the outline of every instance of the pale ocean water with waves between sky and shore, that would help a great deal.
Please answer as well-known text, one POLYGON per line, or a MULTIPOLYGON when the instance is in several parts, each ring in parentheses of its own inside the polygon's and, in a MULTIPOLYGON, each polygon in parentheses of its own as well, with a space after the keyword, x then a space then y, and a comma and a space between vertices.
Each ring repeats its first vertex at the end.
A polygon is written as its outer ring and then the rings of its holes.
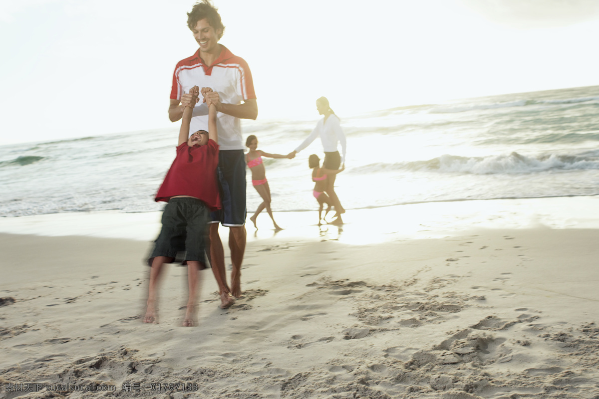
MULTIPOLYGON (((341 111, 338 109, 337 111, 341 111)), ((258 148, 287 154, 316 125, 244 121, 258 148)), ((166 115, 165 115, 166 117, 166 115)), ((455 200, 599 194, 599 86, 455 100, 343 115, 348 210, 455 200)), ((0 147, 0 215, 117 209, 150 212, 179 126, 0 147)), ((274 211, 317 209, 308 156, 265 159, 274 211)), ((247 180, 247 208, 261 202, 247 180)))

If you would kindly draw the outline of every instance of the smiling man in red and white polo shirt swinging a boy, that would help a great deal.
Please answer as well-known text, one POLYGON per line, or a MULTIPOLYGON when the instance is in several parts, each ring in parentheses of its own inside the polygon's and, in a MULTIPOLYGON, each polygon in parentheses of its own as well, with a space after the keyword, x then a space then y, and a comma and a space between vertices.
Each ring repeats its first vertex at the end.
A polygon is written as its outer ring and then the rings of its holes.
POLYGON ((219 131, 219 166, 217 169, 222 210, 213 212, 210 225, 210 258, 219 285, 220 307, 231 306, 233 297, 241 297, 241 263, 246 249, 246 163, 240 119, 256 119, 258 104, 247 63, 219 44, 225 26, 208 0, 196 3, 187 13, 187 26, 199 44, 193 56, 177 63, 173 74, 171 105, 168 116, 178 121, 186 105, 194 106, 190 132, 207 130, 208 107, 191 103, 189 89, 210 87, 207 97, 216 103, 219 131), (225 252, 218 233, 218 223, 229 227, 231 249, 231 289, 226 283, 225 252), (233 297, 231 297, 231 295, 233 297))

